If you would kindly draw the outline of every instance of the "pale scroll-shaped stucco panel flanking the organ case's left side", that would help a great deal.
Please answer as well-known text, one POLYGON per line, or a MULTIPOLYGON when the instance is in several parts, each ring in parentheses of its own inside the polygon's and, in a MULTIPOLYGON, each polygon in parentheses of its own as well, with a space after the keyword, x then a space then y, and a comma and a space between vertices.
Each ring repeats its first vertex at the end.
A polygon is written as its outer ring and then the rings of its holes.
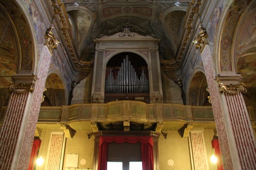
POLYGON ((91 100, 91 81, 92 75, 89 74, 85 79, 81 80, 73 90, 71 104, 88 103, 91 100))

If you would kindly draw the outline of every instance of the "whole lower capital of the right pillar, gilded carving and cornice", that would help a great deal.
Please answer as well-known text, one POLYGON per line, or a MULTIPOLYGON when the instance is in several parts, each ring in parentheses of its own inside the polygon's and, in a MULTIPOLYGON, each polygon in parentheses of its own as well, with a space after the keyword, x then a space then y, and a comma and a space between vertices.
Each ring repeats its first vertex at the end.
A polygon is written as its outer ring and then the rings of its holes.
POLYGON ((244 94, 247 92, 242 80, 241 75, 218 75, 215 77, 215 81, 219 84, 220 93, 227 92, 229 95, 236 95, 240 92, 244 94))

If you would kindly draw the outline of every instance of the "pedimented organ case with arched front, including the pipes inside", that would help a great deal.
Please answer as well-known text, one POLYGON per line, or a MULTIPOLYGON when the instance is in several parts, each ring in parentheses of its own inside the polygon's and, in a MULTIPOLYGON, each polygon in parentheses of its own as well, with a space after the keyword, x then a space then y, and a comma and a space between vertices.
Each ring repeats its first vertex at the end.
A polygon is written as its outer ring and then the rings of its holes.
POLYGON ((126 30, 95 43, 92 102, 163 102, 159 39, 126 30))

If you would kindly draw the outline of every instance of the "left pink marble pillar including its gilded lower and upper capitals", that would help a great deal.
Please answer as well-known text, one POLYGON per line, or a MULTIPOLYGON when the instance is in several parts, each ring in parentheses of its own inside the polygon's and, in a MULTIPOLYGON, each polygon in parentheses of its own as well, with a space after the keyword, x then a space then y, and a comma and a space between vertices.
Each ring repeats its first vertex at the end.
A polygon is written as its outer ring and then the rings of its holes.
POLYGON ((47 29, 46 45, 42 48, 37 76, 13 77, 16 84, 10 86, 13 92, 0 133, 0 169, 28 169, 51 52, 59 43, 52 29, 47 29))

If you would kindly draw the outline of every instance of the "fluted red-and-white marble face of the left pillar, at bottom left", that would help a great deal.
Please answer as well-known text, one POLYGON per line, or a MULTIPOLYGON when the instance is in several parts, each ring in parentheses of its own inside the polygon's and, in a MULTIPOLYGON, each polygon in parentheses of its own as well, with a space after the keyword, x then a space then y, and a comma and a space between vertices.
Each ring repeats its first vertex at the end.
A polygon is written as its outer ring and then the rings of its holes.
MULTIPOLYGON (((33 82, 33 77, 31 78, 33 82)), ((20 85, 19 91, 23 87, 28 87, 29 84, 20 85)), ((12 92, 6 112, 6 119, 4 119, 2 130, 0 133, 0 169, 11 169, 13 161, 15 160, 16 147, 21 140, 19 133, 22 132, 22 121, 24 115, 28 114, 26 104, 29 94, 31 92, 23 91, 22 94, 12 92)), ((24 125, 23 125, 24 126, 24 125)))

